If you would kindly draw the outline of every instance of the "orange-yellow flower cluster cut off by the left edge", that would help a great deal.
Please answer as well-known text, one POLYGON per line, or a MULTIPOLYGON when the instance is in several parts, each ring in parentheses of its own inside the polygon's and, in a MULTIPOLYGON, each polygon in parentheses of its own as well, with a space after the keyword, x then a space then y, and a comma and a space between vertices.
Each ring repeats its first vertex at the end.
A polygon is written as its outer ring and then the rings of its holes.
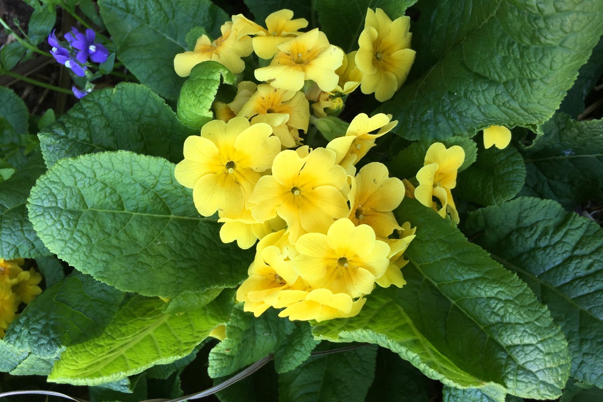
POLYGON ((5 260, 0 258, 0 338, 15 318, 19 304, 28 304, 42 289, 37 286, 42 275, 31 268, 24 271, 23 259, 5 260))

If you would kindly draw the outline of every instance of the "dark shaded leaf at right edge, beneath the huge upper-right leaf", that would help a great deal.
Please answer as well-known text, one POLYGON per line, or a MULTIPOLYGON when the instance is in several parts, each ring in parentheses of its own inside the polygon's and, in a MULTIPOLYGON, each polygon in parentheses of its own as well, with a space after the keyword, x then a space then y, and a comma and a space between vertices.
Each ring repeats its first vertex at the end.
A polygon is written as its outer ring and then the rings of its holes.
POLYGON ((521 195, 551 198, 566 209, 603 198, 603 120, 573 121, 558 113, 525 149, 521 195))

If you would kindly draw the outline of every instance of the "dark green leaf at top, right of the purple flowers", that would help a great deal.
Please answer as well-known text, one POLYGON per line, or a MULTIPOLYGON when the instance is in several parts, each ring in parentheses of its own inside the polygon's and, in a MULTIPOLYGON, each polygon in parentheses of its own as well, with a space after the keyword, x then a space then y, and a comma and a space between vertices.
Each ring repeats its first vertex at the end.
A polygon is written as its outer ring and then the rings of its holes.
POLYGON ((218 37, 228 19, 209 0, 100 0, 98 5, 119 60, 167 99, 178 98, 184 82, 174 72, 174 56, 186 51, 188 31, 201 26, 218 37))

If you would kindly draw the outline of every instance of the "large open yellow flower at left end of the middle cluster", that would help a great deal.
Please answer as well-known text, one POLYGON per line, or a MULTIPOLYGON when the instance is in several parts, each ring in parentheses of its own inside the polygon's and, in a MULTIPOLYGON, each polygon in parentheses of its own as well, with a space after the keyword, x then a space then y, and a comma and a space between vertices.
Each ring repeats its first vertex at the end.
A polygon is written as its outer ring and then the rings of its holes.
POLYGON ((185 159, 176 165, 178 183, 193 189, 198 212, 211 216, 220 209, 239 214, 263 172, 272 166, 280 141, 267 124, 250 127, 245 118, 229 122, 213 120, 190 136, 184 145, 185 159))

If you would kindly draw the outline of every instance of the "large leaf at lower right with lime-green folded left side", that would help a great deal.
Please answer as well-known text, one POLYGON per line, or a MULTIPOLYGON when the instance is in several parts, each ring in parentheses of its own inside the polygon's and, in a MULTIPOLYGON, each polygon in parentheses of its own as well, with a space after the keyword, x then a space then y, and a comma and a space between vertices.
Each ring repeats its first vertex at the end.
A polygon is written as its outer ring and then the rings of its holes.
POLYGON ((376 289, 358 316, 315 335, 377 343, 456 388, 555 398, 569 375, 567 342, 516 275, 414 199, 396 210, 417 227, 402 289, 376 289), (501 387, 502 386, 502 387, 501 387))

